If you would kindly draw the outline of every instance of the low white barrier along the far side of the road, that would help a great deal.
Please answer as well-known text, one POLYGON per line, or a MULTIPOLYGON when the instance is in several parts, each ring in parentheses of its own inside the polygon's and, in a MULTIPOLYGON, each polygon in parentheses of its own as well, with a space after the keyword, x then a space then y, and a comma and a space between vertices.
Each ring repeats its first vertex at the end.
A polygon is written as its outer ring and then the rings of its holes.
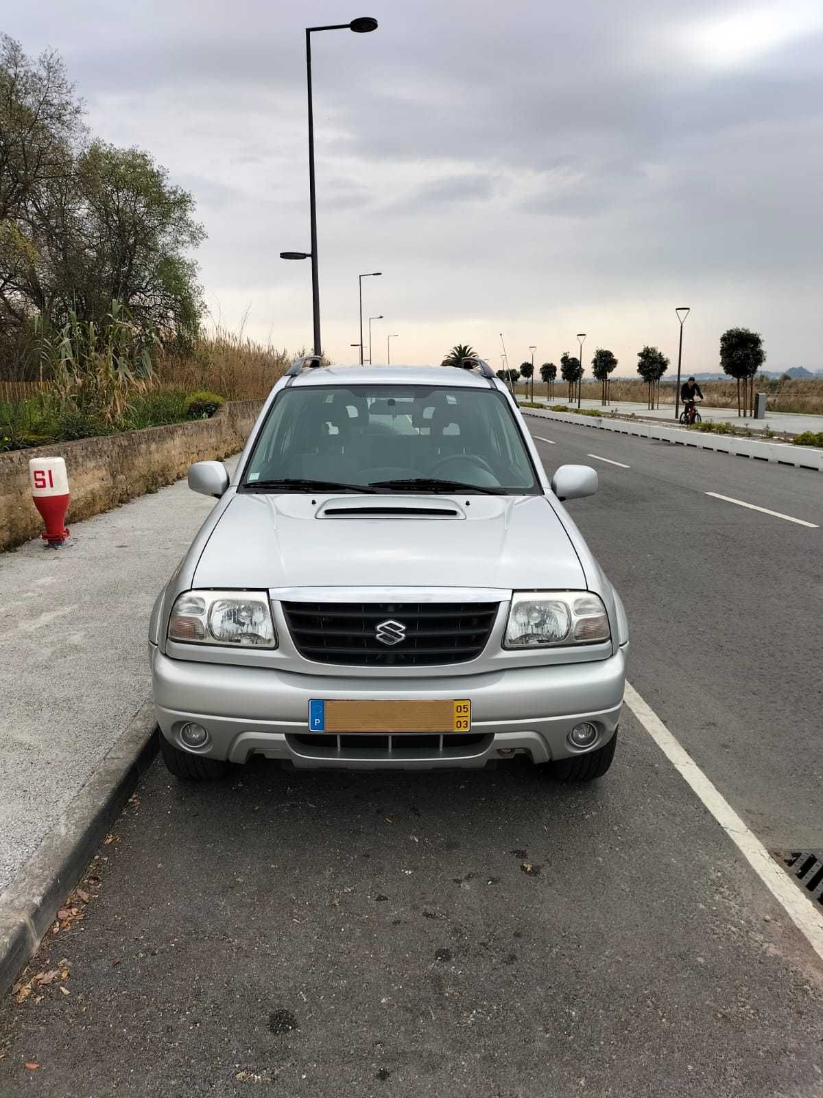
POLYGON ((577 427, 616 430, 621 435, 635 435, 638 438, 657 438, 672 442, 673 446, 694 446, 698 450, 717 450, 719 453, 734 453, 757 461, 776 461, 781 466, 797 466, 799 469, 823 472, 823 450, 813 447, 771 442, 759 438, 740 438, 735 435, 712 435, 700 430, 687 430, 684 427, 658 427, 654 423, 612 419, 610 416, 575 415, 522 407, 521 412, 538 419, 554 419, 577 427))

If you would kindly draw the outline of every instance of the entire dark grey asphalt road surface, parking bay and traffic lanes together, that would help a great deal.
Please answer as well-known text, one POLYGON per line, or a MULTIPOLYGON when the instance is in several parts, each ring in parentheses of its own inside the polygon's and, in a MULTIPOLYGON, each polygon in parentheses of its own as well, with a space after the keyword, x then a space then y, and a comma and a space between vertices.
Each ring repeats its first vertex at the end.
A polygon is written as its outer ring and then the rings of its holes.
MULTIPOLYGON (((823 527, 819 474, 532 424, 598 466, 570 511, 634 687, 767 845, 823 845, 823 530, 704 495, 823 527)), ((630 713, 583 788, 155 766, 82 887, 0 1006, 2 1098, 823 1095, 823 966, 630 713)))

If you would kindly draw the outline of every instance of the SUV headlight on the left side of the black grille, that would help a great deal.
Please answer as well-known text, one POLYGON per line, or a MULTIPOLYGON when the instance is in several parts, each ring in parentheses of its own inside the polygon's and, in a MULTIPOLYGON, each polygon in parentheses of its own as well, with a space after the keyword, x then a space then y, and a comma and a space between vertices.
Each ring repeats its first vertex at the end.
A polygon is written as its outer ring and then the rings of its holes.
POLYGON ((269 597, 263 591, 185 591, 169 617, 169 640, 195 645, 277 648, 269 597))

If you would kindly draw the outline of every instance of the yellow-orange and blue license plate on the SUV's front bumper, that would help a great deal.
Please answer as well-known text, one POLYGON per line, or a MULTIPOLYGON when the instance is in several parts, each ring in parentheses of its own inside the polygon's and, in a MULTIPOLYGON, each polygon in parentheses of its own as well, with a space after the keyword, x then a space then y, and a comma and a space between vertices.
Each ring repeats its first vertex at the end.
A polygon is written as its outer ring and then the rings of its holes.
POLYGON ((472 703, 437 698, 414 702, 358 702, 347 698, 308 703, 311 732, 467 732, 472 703))

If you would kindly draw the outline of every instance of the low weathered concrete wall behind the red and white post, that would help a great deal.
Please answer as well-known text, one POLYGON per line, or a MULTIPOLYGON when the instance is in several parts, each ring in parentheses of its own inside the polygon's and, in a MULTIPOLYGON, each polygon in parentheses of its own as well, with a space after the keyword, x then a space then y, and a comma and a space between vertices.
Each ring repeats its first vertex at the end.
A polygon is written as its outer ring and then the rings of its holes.
POLYGON ((0 453, 0 549, 21 545, 43 529, 29 485, 30 458, 66 459, 71 493, 66 522, 70 527, 72 522, 179 480, 193 461, 237 453, 261 406, 260 401, 233 401, 211 419, 0 453))

